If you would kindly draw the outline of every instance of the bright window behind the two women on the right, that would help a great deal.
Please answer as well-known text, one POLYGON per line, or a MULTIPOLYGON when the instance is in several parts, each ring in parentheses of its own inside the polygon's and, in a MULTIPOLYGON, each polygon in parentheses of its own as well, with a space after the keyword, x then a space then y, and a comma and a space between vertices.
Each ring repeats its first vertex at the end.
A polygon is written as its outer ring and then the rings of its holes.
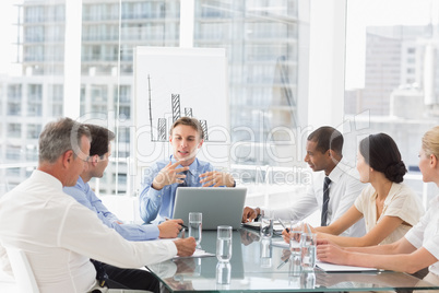
MULTIPOLYGON (((435 108, 439 101, 428 101, 423 91, 425 80, 431 80, 434 95, 438 96, 439 80, 434 73, 438 65, 428 62, 428 50, 437 54, 439 49, 437 45, 427 48, 435 43, 429 32, 438 30, 438 24, 430 24, 430 1, 346 3, 345 119, 364 126, 359 137, 390 134, 408 169, 404 181, 419 195, 427 191, 431 198, 435 192, 422 184, 417 168, 420 138, 438 119, 435 108), (416 17, 408 20, 407 15, 416 17), (424 70, 425 63, 431 70, 424 70)), ((349 156, 355 159, 354 148, 349 156)), ((426 203, 427 198, 424 200, 426 203)))

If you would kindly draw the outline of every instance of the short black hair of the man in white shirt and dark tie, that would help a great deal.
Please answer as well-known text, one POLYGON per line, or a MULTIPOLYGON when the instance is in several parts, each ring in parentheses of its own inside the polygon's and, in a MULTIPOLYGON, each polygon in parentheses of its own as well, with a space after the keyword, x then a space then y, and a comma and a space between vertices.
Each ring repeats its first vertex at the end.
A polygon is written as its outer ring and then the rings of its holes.
POLYGON ((333 127, 322 126, 308 136, 308 140, 317 142, 317 150, 325 153, 333 150, 337 154, 342 154, 343 134, 333 127))

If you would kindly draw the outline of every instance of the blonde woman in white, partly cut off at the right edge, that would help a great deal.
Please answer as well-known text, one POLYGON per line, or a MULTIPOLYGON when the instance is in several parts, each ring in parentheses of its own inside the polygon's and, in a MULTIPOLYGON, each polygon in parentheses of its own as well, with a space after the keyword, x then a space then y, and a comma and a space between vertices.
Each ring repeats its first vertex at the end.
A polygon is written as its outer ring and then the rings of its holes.
MULTIPOLYGON (((439 127, 424 134, 419 169, 425 183, 432 181, 439 187, 439 127)), ((419 223, 393 244, 341 248, 324 239, 318 243, 317 256, 333 263, 408 273, 429 266, 424 280, 439 285, 439 197, 430 201, 419 223)))

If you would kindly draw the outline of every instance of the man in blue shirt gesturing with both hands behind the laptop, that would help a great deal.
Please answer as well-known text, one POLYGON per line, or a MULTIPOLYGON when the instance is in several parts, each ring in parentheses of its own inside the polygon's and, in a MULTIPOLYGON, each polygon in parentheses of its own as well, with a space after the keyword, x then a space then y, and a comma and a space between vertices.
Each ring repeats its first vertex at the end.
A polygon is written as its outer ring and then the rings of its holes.
POLYGON ((210 163, 195 157, 203 139, 199 120, 181 117, 174 122, 169 137, 174 154, 146 169, 143 178, 139 198, 143 221, 159 223, 173 218, 178 187, 236 186, 230 174, 217 172, 210 163))

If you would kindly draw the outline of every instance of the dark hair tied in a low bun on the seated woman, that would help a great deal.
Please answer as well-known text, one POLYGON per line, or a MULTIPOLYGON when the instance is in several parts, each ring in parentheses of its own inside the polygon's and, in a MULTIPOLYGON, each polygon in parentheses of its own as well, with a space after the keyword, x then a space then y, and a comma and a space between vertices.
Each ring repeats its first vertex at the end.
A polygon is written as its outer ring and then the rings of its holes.
POLYGON ((392 183, 402 183, 407 173, 394 140, 385 133, 370 134, 359 142, 359 153, 375 171, 392 183))

